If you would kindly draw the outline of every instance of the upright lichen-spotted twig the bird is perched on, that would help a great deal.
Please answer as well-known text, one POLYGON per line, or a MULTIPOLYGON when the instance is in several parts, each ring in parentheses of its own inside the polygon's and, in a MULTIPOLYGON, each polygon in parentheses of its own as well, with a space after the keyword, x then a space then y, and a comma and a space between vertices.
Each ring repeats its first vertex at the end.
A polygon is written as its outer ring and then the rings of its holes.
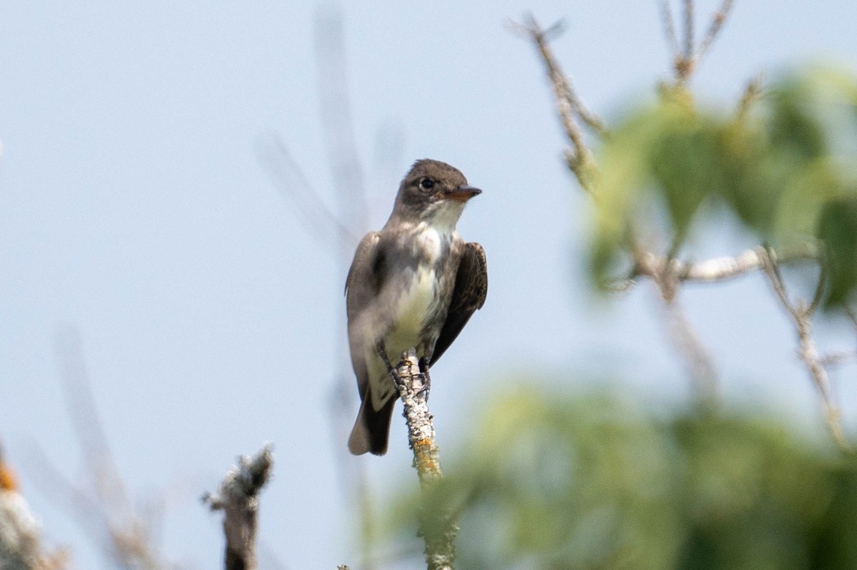
MULTIPOLYGON (((399 389, 399 397, 405 404, 405 421, 408 425, 408 442, 414 452, 414 467, 420 479, 423 499, 440 482, 440 451, 434 441, 434 423, 428 411, 428 382, 420 371, 417 351, 402 354, 395 368, 387 359, 387 353, 379 348, 381 358, 387 363, 390 377, 399 389)), ((441 514, 442 520, 423 520, 420 535, 425 541, 428 570, 452 570, 455 561, 455 536, 458 525, 452 514, 441 514)))

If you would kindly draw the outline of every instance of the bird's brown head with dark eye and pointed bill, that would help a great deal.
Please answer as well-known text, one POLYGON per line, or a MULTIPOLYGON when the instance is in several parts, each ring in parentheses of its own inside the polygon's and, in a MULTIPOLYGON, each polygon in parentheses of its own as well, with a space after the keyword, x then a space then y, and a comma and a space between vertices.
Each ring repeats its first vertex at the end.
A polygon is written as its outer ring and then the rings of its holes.
POLYGON ((468 186, 464 175, 449 164, 417 160, 399 186, 393 216, 452 230, 464 204, 478 193, 482 190, 468 186))

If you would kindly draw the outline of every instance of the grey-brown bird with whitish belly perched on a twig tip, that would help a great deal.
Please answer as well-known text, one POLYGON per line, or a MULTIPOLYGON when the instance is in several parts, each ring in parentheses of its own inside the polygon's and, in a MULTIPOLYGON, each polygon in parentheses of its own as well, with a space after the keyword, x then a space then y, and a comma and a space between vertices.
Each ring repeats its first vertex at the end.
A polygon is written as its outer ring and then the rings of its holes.
POLYGON ((428 377, 428 367, 485 302, 485 251, 455 231, 464 205, 481 192, 449 164, 418 160, 402 180, 384 228, 357 246, 345 282, 351 365, 361 399, 348 439, 352 454, 387 453, 399 393, 379 348, 393 365, 416 348, 428 377))

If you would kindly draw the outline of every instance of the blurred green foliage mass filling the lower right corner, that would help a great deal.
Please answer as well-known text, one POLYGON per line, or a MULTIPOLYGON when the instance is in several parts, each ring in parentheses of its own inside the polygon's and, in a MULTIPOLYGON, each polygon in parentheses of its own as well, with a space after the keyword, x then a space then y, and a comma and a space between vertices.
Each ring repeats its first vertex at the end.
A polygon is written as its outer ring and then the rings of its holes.
POLYGON ((463 570, 857 568, 857 462, 758 412, 522 389, 471 436, 425 503, 458 515, 463 570))

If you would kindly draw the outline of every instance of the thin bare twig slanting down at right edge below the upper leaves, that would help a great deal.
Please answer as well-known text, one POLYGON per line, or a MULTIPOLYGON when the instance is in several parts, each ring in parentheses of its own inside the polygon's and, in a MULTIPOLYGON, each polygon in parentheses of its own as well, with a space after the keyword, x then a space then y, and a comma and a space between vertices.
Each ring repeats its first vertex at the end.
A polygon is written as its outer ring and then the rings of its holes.
POLYGON ((786 285, 782 280, 779 264, 777 263, 776 252, 770 248, 766 248, 764 251, 764 273, 768 277, 771 288, 774 289, 776 298, 780 300, 780 305, 788 312, 788 315, 794 322, 794 330, 797 333, 800 345, 798 354, 806 365, 806 371, 812 377, 812 382, 815 383, 818 394, 821 395, 824 405, 824 416, 827 420, 830 435, 842 451, 849 452, 850 447, 842 433, 841 413, 831 393, 830 378, 827 375, 827 370, 824 368, 821 357, 818 355, 815 340, 812 338, 811 307, 806 305, 805 300, 799 299, 793 303, 788 298, 786 285))

